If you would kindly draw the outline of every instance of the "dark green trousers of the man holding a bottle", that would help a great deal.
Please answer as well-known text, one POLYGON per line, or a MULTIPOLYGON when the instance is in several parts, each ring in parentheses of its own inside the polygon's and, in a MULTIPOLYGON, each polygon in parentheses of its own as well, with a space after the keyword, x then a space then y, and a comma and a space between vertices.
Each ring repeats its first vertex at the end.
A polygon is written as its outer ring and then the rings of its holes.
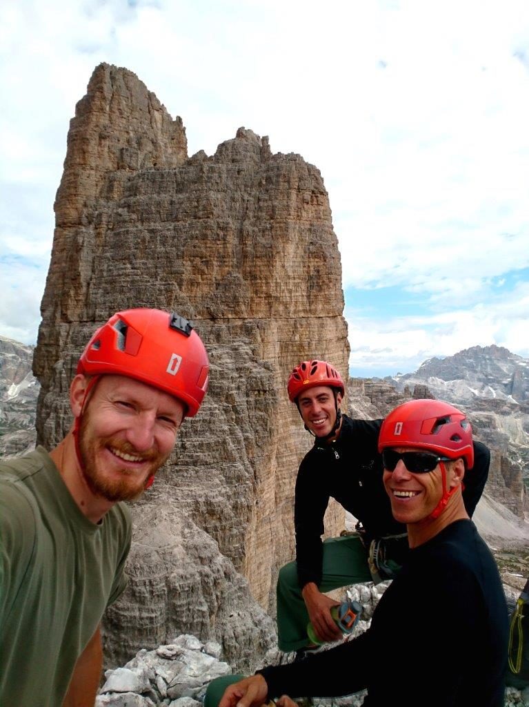
MULTIPOLYGON (((323 542, 321 592, 371 582, 367 551, 358 534, 333 537, 323 542)), ((297 566, 289 562, 278 577, 278 644, 290 653, 309 644, 307 624, 309 614, 297 580, 297 566)))

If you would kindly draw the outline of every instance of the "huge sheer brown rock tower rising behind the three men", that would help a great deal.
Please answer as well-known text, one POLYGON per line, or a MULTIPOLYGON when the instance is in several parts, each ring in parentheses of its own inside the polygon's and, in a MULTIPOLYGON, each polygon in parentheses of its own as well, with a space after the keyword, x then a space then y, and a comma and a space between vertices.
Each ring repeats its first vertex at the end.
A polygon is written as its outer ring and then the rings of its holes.
MULTIPOLYGON (((134 620, 126 652, 120 622, 109 622, 108 655, 121 661, 195 630, 224 641, 237 661, 225 640, 239 630, 233 617, 251 597, 273 610, 275 573, 293 554, 295 474, 310 438, 288 402, 287 375, 311 357, 347 373, 340 256, 319 170, 274 155, 267 138, 243 128, 214 156, 188 158, 181 119, 130 71, 102 64, 71 121, 55 211, 34 360, 44 445, 66 432, 76 360, 113 312, 177 311, 194 322, 211 361, 200 413, 133 509, 131 585, 113 611, 134 620), (160 535, 139 542, 160 516, 160 535), (191 546, 196 572, 182 592, 175 578, 191 546), (237 591, 221 588, 222 576, 237 591)), ((342 524, 331 508, 328 531, 342 524)), ((268 647, 270 627, 252 610, 255 651, 256 642, 268 647)))

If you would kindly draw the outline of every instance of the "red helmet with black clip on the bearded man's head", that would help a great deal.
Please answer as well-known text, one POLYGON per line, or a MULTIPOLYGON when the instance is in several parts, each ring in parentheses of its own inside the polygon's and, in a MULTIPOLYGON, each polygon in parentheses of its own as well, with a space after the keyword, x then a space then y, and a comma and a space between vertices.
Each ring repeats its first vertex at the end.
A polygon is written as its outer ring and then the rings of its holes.
POLYGON ((126 375, 186 404, 193 417, 208 390, 209 361, 201 338, 177 314, 154 309, 117 312, 88 342, 77 373, 126 375))

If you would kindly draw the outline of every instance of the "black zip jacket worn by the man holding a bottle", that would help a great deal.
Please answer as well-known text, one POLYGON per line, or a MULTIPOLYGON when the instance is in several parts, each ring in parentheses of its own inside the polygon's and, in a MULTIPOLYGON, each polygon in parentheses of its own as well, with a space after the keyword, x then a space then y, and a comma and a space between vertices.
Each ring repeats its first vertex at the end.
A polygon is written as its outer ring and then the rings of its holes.
MULTIPOLYGON (((332 445, 316 438, 299 466, 294 522, 299 585, 321 581, 323 515, 335 498, 355 516, 369 537, 406 532, 391 513, 384 489, 384 467, 377 444, 382 420, 354 420, 343 415, 338 440, 332 445)), ((490 453, 474 443, 474 467, 465 473, 463 501, 472 516, 489 474, 490 453)))

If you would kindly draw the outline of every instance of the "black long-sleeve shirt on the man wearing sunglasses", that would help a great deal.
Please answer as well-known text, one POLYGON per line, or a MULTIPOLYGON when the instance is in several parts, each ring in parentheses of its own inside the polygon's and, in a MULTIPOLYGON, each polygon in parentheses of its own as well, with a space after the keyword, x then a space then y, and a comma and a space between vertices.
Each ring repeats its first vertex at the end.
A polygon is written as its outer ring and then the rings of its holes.
POLYGON ((268 696, 338 696, 364 707, 500 707, 508 616, 494 558, 470 520, 410 550, 371 628, 338 648, 261 671, 268 696))

